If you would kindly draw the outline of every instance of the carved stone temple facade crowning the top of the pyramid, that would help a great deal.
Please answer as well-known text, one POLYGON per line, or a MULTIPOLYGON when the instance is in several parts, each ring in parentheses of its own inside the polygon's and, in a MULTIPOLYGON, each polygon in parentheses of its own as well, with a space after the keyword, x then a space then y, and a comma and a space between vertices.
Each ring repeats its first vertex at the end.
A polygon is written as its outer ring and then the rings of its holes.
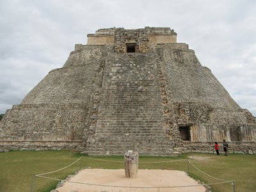
POLYGON ((135 52, 148 52, 149 47, 156 47, 157 44, 177 42, 177 33, 170 28, 99 29, 87 36, 87 45, 114 45, 115 52, 127 52, 129 45, 134 45, 135 52))

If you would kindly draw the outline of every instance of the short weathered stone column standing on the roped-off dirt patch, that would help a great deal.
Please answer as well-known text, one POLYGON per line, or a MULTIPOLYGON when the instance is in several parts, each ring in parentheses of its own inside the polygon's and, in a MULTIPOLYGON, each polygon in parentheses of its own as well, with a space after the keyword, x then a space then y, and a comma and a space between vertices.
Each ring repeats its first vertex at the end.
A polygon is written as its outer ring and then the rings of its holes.
POLYGON ((124 155, 125 163, 125 177, 134 178, 137 177, 139 168, 139 154, 138 152, 132 152, 129 150, 124 155))

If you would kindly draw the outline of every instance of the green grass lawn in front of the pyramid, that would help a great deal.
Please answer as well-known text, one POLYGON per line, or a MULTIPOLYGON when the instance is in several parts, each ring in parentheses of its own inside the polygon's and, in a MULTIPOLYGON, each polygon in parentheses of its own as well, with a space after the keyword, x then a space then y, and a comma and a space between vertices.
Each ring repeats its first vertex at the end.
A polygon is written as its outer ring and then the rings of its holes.
MULTIPOLYGON (((70 153, 69 150, 45 151, 13 151, 0 153, 0 191, 31 191, 33 175, 59 170, 76 161, 81 155, 70 153)), ((236 191, 255 191, 256 189, 256 155, 230 154, 216 156, 215 154, 183 154, 181 157, 140 157, 140 169, 166 169, 189 172, 191 177, 208 183, 221 182, 196 170, 188 161, 173 161, 189 159, 197 168, 218 179, 234 180, 236 191), (198 159, 200 157, 200 159, 198 159), (172 161, 165 163, 150 163, 172 161)), ((75 173, 79 168, 124 168, 124 157, 95 157, 98 159, 121 161, 108 162, 83 158, 60 172, 44 175, 55 179, 65 179, 67 175, 75 173)), ((140 172, 140 171, 139 171, 140 172)), ((34 191, 51 191, 58 181, 36 177, 34 191)), ((232 185, 216 184, 212 191, 234 191, 232 185)))

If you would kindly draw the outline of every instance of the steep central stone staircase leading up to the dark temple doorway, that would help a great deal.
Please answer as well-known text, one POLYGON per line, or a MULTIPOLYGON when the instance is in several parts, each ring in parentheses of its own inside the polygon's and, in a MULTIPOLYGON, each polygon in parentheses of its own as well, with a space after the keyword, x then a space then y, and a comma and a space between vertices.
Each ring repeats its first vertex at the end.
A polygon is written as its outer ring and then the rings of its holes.
POLYGON ((106 60, 95 136, 88 153, 118 155, 127 150, 146 156, 172 155, 152 53, 109 53, 106 60))

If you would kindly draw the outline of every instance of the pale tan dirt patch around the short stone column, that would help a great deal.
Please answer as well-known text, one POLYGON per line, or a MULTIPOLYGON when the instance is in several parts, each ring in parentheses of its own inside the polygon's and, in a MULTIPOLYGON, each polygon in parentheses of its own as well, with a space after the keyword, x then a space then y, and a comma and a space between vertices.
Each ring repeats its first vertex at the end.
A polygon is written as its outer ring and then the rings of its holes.
POLYGON ((204 186, 198 185, 185 172, 175 170, 138 170, 138 177, 125 177, 124 170, 85 169, 71 177, 57 188, 58 192, 141 192, 141 191, 189 191, 205 192, 204 186), (76 183, 74 183, 76 182, 76 183), (79 184, 86 183, 86 184, 79 184), (94 184, 94 185, 93 185, 94 184), (100 186, 101 185, 101 186, 100 186), (119 186, 119 187, 115 187, 119 186), (120 187, 122 186, 122 187, 120 187), (174 188, 181 186, 180 188, 174 188), (186 187, 185 187, 186 186, 186 187), (137 187, 137 188, 128 188, 137 187), (147 187, 147 188, 146 188, 147 187), (158 188, 157 188, 158 187, 158 188), (165 187, 165 188, 164 188, 165 187), (170 188, 172 187, 172 188, 170 188))

